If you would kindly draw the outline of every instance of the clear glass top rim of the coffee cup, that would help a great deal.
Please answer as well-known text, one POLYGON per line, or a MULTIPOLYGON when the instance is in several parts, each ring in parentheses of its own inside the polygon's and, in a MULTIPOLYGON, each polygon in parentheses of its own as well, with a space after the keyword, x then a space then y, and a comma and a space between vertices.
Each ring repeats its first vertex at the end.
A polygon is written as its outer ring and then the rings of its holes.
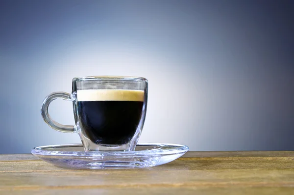
POLYGON ((132 77, 132 76, 86 76, 86 77, 74 77, 73 82, 76 81, 92 81, 92 80, 128 80, 128 81, 146 81, 144 77, 132 77))

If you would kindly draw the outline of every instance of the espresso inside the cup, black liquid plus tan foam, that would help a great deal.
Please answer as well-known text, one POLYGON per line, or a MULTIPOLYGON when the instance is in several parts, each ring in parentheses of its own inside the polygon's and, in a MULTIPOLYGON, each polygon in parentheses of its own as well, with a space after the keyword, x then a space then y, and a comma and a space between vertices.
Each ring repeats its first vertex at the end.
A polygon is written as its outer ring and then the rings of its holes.
POLYGON ((133 138, 142 115, 143 90, 77 90, 81 131, 97 144, 122 145, 133 138))

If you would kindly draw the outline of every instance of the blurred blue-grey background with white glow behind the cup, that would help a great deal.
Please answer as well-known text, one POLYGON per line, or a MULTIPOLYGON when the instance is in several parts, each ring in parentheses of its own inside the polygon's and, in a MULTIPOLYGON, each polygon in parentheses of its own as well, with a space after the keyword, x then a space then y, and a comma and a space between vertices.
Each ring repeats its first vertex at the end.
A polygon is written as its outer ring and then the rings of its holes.
POLYGON ((0 153, 80 142, 40 108, 92 75, 148 79, 140 141, 294 150, 293 0, 0 0, 0 153))

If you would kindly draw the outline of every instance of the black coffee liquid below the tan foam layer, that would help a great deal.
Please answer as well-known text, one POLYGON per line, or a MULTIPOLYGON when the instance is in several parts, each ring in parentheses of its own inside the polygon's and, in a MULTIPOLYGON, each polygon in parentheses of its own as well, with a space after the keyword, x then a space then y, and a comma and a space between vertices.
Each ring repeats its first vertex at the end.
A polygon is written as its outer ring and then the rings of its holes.
POLYGON ((97 144, 125 144, 140 123, 143 101, 78 101, 82 131, 97 144))

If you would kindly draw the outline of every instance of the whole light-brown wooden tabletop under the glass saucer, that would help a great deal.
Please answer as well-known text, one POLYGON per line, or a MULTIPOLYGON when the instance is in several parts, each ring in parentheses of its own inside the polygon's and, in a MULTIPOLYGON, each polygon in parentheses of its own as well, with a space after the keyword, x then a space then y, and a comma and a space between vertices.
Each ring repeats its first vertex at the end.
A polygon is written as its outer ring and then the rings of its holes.
POLYGON ((294 195, 294 152, 188 152, 144 169, 70 170, 0 155, 0 195, 294 195))

